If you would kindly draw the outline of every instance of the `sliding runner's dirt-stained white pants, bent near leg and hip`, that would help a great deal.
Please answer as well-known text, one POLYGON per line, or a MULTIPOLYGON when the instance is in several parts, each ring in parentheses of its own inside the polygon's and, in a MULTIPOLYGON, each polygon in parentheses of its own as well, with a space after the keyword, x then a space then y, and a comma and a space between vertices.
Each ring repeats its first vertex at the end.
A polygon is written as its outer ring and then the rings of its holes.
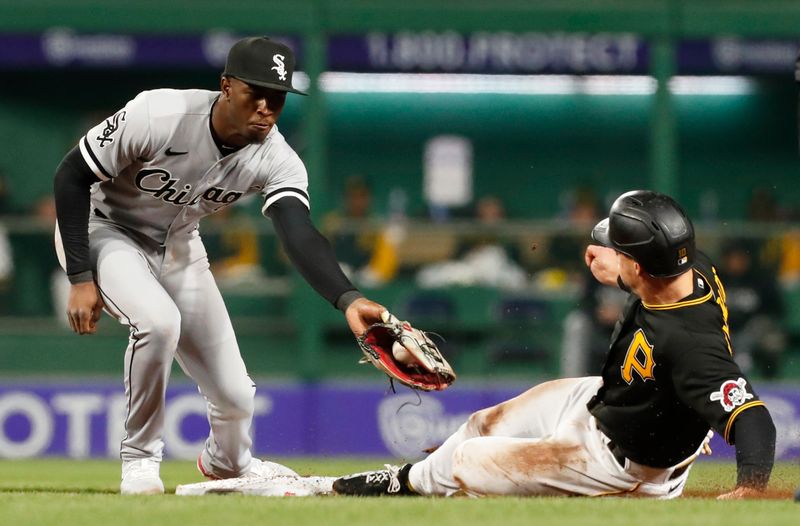
POLYGON ((551 407, 560 416, 547 436, 481 436, 462 442, 452 458, 452 478, 459 489, 471 496, 679 496, 695 456, 670 468, 630 460, 621 466, 586 408, 600 386, 596 380, 573 384, 566 393, 562 390, 566 396, 561 405, 554 401, 551 407))

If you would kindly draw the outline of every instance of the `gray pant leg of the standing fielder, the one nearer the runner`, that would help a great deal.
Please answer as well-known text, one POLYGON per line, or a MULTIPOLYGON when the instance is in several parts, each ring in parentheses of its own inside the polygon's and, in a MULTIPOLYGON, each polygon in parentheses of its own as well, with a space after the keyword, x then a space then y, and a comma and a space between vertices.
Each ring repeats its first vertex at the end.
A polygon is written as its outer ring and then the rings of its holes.
POLYGON ((181 312, 177 360, 197 382, 208 405, 211 433, 201 453, 203 466, 219 477, 234 477, 252 460, 255 384, 247 374, 200 238, 193 237, 184 248, 188 253, 178 251, 165 258, 163 278, 181 312))

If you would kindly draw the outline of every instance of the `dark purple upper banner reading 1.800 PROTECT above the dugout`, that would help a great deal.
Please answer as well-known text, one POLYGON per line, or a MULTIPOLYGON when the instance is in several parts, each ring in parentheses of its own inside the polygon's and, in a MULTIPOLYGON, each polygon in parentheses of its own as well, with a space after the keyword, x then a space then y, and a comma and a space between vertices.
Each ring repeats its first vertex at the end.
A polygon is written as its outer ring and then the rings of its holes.
MULTIPOLYGON (((246 35, 225 30, 162 35, 80 33, 56 27, 42 33, 0 34, 0 69, 221 69, 228 50, 246 35)), ((303 41, 291 46, 303 69, 303 41)), ((331 35, 330 71, 642 75, 650 72, 650 42, 630 33, 401 31, 331 35)), ((791 74, 800 41, 718 37, 677 43, 680 74, 791 74)))

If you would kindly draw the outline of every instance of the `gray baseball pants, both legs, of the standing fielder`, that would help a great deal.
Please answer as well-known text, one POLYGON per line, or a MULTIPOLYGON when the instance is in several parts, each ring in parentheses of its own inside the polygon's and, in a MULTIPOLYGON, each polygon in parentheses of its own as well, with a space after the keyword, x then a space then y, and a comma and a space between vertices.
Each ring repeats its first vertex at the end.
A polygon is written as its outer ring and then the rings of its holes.
POLYGON ((202 452, 204 468, 221 478, 246 471, 252 459, 255 384, 199 233, 161 247, 92 218, 89 247, 106 309, 130 328, 122 459, 161 460, 165 392, 174 359, 207 401, 211 433, 202 452))

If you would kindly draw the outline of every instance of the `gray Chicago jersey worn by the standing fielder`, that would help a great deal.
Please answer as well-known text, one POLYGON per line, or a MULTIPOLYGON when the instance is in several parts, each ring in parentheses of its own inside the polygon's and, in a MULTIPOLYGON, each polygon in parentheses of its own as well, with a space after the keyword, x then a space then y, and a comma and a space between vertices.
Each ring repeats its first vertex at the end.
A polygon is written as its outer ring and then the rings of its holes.
POLYGON ((165 244, 200 218, 261 192, 263 211, 285 195, 309 206, 308 174, 274 126, 262 144, 223 156, 210 132, 218 92, 145 91, 83 137, 83 159, 102 181, 101 217, 165 244))

